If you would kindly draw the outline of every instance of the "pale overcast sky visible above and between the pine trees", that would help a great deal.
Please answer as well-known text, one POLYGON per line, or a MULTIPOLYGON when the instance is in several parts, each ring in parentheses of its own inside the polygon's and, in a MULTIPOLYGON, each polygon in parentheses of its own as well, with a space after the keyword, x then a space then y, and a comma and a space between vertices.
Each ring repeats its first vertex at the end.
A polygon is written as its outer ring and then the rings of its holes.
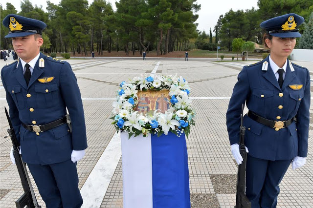
MULTIPOLYGON (((30 0, 33 5, 37 6, 42 5, 45 10, 46 0, 30 0)), ((54 4, 58 4, 60 0, 50 0, 54 4)), ((88 0, 89 4, 93 0, 88 0)), ((118 0, 117 0, 118 1, 118 0)), ((1 0, 3 9, 6 8, 6 2, 12 3, 18 12, 21 11, 21 0, 1 0)), ((113 9, 116 10, 115 0, 107 0, 111 2, 113 9)), ((230 9, 233 10, 246 10, 251 9, 252 7, 258 8, 258 0, 197 0, 198 4, 201 4, 201 10, 197 13, 199 15, 196 23, 199 23, 198 30, 205 31, 206 33, 210 32, 210 27, 212 28, 212 33, 214 26, 216 25, 220 15, 224 15, 230 9)), ((45 10, 46 11, 46 10, 45 10)))

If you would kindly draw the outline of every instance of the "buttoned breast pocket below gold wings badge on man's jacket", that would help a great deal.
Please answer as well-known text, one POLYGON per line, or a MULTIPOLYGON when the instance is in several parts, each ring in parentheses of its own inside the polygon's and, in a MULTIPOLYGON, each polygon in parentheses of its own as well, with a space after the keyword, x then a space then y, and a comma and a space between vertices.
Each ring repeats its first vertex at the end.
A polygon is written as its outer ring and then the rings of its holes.
POLYGON ((37 104, 43 107, 52 107, 57 98, 57 84, 38 84, 35 85, 37 104), (42 105, 41 105, 42 104, 42 105))

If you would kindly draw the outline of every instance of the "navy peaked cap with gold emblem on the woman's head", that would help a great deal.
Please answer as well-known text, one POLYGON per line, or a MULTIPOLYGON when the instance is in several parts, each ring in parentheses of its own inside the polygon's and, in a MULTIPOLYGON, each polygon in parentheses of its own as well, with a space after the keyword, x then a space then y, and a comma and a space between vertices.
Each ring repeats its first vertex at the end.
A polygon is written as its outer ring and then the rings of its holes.
POLYGON ((279 38, 299 38, 301 34, 297 28, 304 22, 304 18, 294 14, 286 14, 263 21, 260 27, 266 29, 267 34, 279 38))

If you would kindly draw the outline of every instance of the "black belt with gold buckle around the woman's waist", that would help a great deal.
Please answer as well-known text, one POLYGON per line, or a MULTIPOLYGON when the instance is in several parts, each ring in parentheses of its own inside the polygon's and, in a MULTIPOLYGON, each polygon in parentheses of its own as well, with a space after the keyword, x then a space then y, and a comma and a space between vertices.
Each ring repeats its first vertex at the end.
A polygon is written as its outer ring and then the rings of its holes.
POLYGON ((275 128, 276 131, 278 131, 281 128, 285 128, 285 127, 291 125, 292 122, 295 121, 294 117, 288 121, 272 121, 272 120, 265 119, 261 116, 258 116, 257 114, 255 114, 254 112, 252 112, 250 110, 248 111, 247 115, 249 118, 251 118, 252 120, 254 120, 256 122, 259 122, 260 124, 267 125, 271 128, 275 128))

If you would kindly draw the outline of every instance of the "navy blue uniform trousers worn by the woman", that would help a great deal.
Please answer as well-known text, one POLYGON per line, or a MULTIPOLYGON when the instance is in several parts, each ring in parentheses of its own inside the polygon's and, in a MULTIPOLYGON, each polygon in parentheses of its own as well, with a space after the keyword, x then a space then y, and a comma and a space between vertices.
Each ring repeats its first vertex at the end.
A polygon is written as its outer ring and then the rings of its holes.
POLYGON ((275 208, 282 181, 291 160, 263 160, 246 157, 246 196, 251 208, 275 208))

